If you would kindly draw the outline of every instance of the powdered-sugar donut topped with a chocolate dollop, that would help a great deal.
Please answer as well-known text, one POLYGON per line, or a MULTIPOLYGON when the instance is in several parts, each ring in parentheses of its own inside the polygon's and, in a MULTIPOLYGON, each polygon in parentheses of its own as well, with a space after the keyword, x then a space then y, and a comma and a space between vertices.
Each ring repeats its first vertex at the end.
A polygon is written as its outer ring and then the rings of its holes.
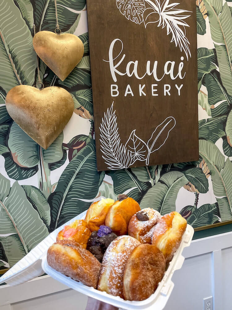
POLYGON ((161 215, 158 211, 146 208, 134 214, 128 225, 128 235, 141 243, 152 243, 153 227, 161 215))

